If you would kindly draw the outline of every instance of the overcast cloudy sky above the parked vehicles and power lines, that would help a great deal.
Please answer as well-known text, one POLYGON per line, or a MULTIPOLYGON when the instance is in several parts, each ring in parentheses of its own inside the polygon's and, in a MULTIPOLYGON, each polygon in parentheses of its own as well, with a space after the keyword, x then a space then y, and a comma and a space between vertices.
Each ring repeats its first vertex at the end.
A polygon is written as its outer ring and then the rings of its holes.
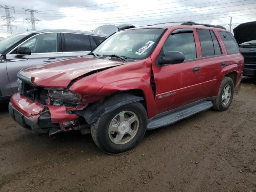
MULTIPOLYGON (((31 29, 23 19, 30 14, 22 8, 38 10, 41 20, 36 29, 62 28, 94 30, 103 24, 133 24, 145 26, 160 22, 194 21, 232 28, 256 20, 256 0, 1 0, 1 5, 15 6, 12 25, 14 34, 31 29)), ((0 16, 4 16, 0 9, 0 16)), ((0 25, 6 24, 0 18, 0 25)), ((0 27, 0 37, 6 37, 6 26, 0 27)))

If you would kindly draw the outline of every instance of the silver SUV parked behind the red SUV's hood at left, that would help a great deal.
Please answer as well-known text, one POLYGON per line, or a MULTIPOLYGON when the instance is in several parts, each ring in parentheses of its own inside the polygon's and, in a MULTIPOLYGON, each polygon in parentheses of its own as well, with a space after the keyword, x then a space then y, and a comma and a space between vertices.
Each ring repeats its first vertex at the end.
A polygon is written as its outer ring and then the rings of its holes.
POLYGON ((94 50, 106 34, 48 29, 16 34, 0 42, 0 102, 18 92, 17 73, 38 64, 82 56, 94 50))

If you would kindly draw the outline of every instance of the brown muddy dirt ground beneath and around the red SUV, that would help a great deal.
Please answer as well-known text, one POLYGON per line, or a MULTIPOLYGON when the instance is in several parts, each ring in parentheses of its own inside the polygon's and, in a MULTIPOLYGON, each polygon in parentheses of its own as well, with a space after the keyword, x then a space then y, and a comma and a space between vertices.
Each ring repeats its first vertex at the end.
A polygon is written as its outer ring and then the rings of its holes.
POLYGON ((146 132, 134 150, 108 155, 90 134, 36 136, 0 105, 0 191, 256 192, 256 79, 230 108, 146 132))

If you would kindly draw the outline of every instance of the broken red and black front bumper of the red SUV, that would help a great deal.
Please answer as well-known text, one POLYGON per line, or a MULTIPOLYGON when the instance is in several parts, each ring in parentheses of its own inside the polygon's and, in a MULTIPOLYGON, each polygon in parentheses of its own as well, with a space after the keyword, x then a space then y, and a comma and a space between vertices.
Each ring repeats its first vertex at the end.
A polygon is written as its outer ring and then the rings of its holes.
MULTIPOLYGON (((78 120, 76 114, 67 114, 65 106, 45 106, 16 93, 9 103, 10 116, 23 128, 30 129, 36 134, 74 130, 73 125, 78 120), (74 122, 65 125, 64 122, 74 122)), ((78 129, 78 128, 76 128, 78 129)))

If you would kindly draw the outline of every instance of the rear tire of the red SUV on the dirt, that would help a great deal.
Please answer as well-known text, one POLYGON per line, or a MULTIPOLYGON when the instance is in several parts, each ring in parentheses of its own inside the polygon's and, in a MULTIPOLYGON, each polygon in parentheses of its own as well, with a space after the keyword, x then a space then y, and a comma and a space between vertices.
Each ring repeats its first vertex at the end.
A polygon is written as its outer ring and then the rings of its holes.
MULTIPOLYGON (((229 93, 228 93, 228 95, 229 95, 229 93)), ((216 99, 213 101, 212 108, 217 111, 227 110, 232 102, 233 96, 234 96, 234 82, 230 77, 224 77, 220 84, 218 95, 216 96, 216 99), (226 97, 226 94, 224 94, 224 89, 226 89, 228 86, 230 86, 230 88, 229 88, 230 89, 230 98, 229 98, 229 100, 226 100, 226 102, 224 102, 222 96, 224 96, 224 98, 226 97)), ((227 98, 228 98, 228 96, 227 96, 227 98)))

